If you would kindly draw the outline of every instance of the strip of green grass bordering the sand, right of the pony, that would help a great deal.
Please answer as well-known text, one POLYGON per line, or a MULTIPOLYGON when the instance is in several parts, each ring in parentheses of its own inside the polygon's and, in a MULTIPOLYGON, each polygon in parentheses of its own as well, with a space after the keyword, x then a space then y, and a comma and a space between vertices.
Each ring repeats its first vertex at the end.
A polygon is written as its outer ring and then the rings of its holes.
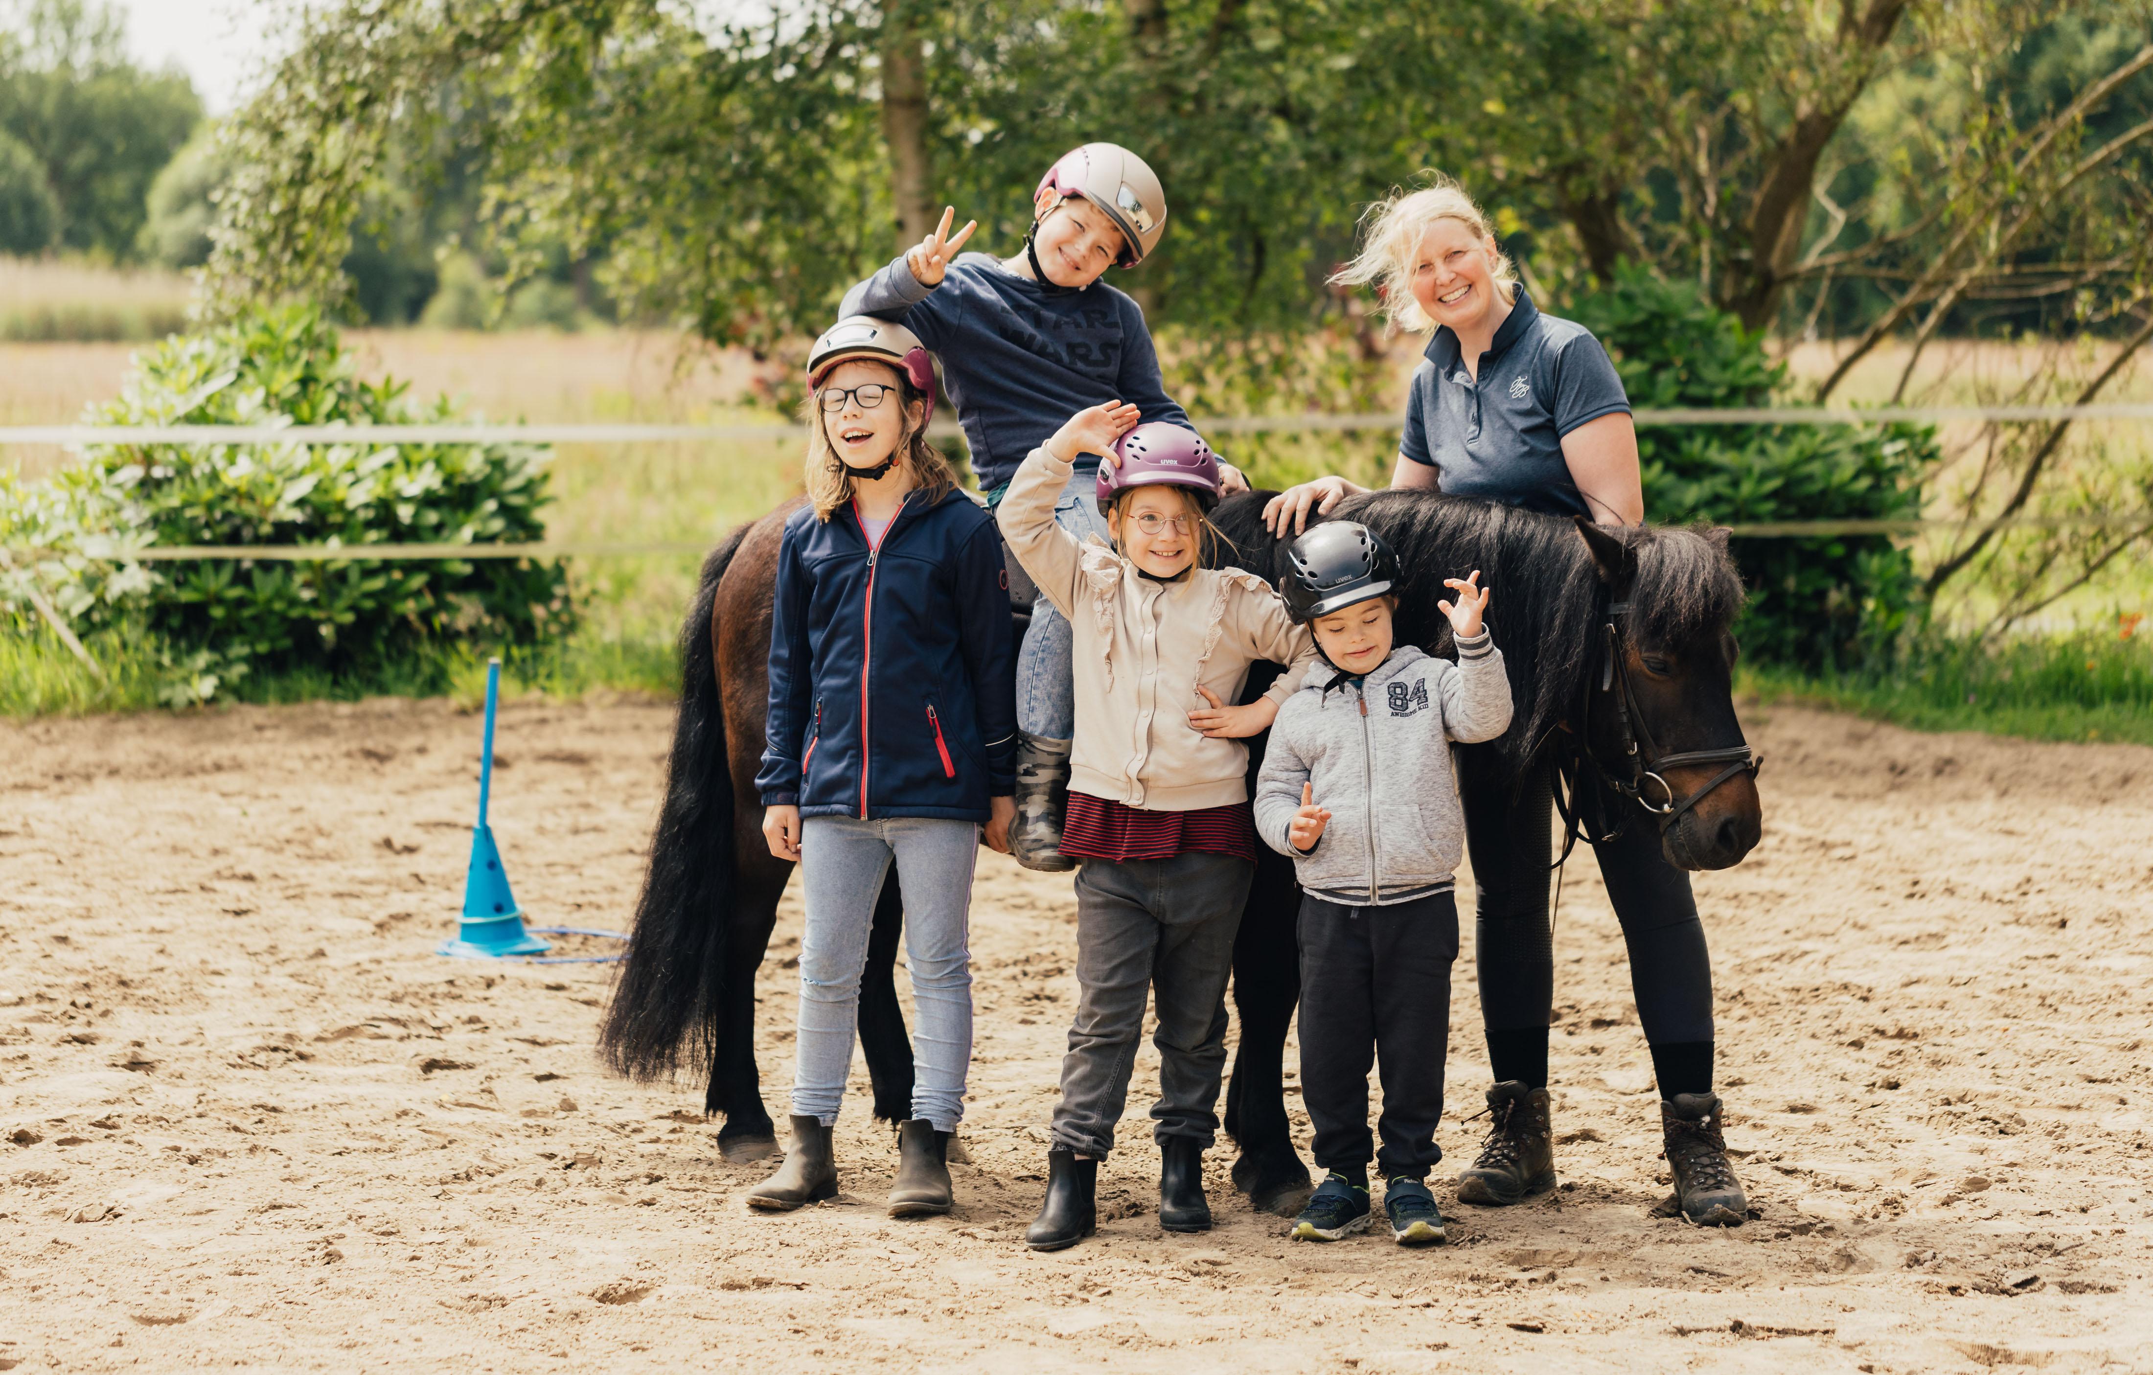
POLYGON ((1933 641, 1895 665, 1837 674, 1750 667, 1742 686, 1914 729, 2153 745, 2153 643, 2114 630, 1989 648, 1933 641))

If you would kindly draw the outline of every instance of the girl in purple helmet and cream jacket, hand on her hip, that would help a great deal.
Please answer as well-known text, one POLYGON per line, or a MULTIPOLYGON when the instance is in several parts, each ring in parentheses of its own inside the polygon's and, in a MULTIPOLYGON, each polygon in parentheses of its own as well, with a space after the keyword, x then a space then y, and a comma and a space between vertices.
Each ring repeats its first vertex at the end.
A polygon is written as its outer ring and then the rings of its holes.
POLYGON ((1079 411, 1031 452, 1001 501, 1001 534, 1072 626, 1076 719, 1061 852, 1076 874, 1076 1020, 1046 1156, 1033 1250, 1094 1231, 1098 1162, 1128 1097, 1143 1001, 1158 990, 1163 1156, 1158 1222, 1206 1231, 1204 1151, 1225 1067, 1225 979, 1255 876, 1249 751, 1315 650, 1270 583, 1199 568, 1216 538, 1208 510, 1219 467, 1176 424, 1137 426, 1139 409, 1079 411), (1137 426, 1137 428, 1130 428, 1137 426), (1079 454, 1104 454, 1094 499, 1113 547, 1055 519, 1079 454), (1287 674, 1249 706, 1255 661, 1287 674))

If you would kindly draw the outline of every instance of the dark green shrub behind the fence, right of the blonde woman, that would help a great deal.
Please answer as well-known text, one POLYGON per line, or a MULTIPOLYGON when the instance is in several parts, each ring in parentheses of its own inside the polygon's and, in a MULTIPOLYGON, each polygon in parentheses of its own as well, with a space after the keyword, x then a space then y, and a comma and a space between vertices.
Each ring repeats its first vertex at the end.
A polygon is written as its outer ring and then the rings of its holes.
MULTIPOLYGON (((1785 381, 1761 331, 1638 267, 1570 314, 1638 409, 1765 407, 1785 381)), ((1910 424, 1641 426, 1636 443, 1645 510, 1664 525, 1910 519, 1940 458, 1936 430, 1910 424)), ((1733 557, 1750 587, 1742 650, 1765 663, 1854 663, 1920 613, 1912 555, 1890 536, 1740 538, 1733 557)))

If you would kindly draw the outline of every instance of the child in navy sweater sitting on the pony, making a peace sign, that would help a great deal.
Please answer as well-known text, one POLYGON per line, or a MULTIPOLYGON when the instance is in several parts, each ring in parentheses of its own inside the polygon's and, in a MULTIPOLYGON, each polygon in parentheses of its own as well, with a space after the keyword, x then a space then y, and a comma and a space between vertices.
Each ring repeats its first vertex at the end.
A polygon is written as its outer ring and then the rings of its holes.
MULTIPOLYGON (((1085 144, 1046 170, 1031 207, 1023 254, 958 256, 977 224, 952 235, 949 209, 932 235, 844 297, 844 314, 902 321, 941 357, 988 510, 1023 456, 1085 407, 1122 398, 1141 420, 1193 430, 1160 385, 1143 310, 1100 280, 1109 267, 1137 267, 1167 232, 1158 176, 1120 144, 1085 144)), ((1055 521, 1079 540, 1107 534, 1092 501, 1096 469, 1096 454, 1076 454, 1055 499, 1055 521)), ((1247 488, 1221 469, 1229 491, 1247 488)), ((1031 607, 1031 626, 1016 661, 1023 734, 1010 841, 1027 869, 1064 871, 1074 867, 1059 854, 1076 721, 1070 626, 1023 583, 1012 596, 1031 607)))

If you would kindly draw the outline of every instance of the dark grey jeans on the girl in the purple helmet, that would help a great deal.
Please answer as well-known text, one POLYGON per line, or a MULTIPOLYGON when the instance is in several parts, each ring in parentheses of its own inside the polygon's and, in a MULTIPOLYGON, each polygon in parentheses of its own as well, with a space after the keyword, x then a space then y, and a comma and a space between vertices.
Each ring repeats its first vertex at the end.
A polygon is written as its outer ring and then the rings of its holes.
POLYGON ((1128 1102, 1145 992, 1158 990, 1158 1104, 1152 1134, 1206 1147, 1225 1072, 1225 979, 1255 865, 1232 854, 1176 854, 1076 874, 1076 1022, 1061 1059, 1053 1145, 1104 1158, 1128 1102))

